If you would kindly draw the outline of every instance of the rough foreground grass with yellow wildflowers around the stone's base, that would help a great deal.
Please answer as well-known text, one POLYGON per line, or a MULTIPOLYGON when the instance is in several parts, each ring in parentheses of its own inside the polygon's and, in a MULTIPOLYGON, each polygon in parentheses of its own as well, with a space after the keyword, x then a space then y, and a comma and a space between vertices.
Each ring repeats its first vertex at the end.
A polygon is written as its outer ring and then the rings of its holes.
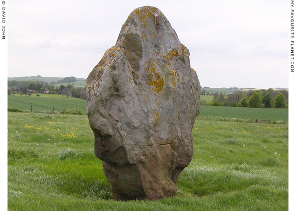
POLYGON ((197 120, 174 197, 116 200, 87 116, 8 113, 9 210, 287 210, 288 125, 197 120))

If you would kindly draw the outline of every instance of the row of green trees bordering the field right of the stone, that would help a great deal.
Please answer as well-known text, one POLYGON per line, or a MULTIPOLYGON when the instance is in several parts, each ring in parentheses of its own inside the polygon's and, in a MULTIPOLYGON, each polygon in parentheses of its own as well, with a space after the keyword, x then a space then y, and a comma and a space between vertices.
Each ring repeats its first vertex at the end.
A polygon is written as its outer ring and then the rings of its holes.
MULTIPOLYGON (((205 93, 202 91, 202 93, 205 93)), ((204 102, 201 102, 203 104, 204 102)), ((236 90, 231 94, 213 93, 213 100, 210 105, 226 107, 250 107, 250 108, 287 108, 288 91, 260 89, 236 90)))

